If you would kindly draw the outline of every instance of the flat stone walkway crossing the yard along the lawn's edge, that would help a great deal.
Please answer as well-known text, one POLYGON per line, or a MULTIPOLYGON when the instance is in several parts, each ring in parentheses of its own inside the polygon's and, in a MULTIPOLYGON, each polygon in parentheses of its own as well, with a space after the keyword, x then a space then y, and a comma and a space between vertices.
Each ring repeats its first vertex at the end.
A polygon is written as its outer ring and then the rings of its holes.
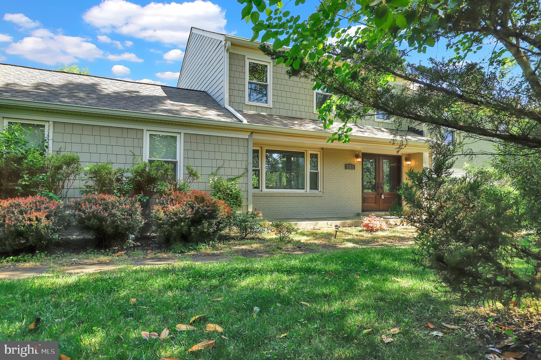
MULTIPOLYGON (((351 250, 358 249, 361 247, 393 247, 393 246, 411 246, 413 243, 407 242, 390 242, 390 243, 375 243, 375 244, 366 244, 359 246, 348 246, 348 245, 328 245, 321 246, 319 250, 310 250, 305 248, 298 249, 289 249, 283 250, 281 252, 267 252, 267 251, 250 251, 239 253, 237 255, 243 258, 268 258, 276 256, 281 253, 286 254, 312 254, 322 251, 337 251, 337 250, 351 250)), ((223 254, 202 254, 202 255, 193 255, 189 257, 194 263, 212 263, 216 261, 234 261, 232 257, 223 255, 223 254)), ((134 266, 146 266, 146 265, 171 265, 180 263, 179 260, 176 260, 171 257, 162 257, 162 258, 149 258, 149 259, 135 259, 131 260, 131 265, 134 266)), ((127 265, 126 263, 122 265, 127 265)), ((64 266, 61 271, 69 274, 76 273, 89 273, 97 271, 106 271, 114 270, 119 265, 115 264, 113 261, 108 261, 107 263, 89 263, 89 264, 73 264, 64 266)), ((27 267, 8 267, 6 269, 0 269, 0 280, 8 279, 24 279, 32 276, 37 276, 47 272, 50 268, 46 266, 27 266, 27 267)))

